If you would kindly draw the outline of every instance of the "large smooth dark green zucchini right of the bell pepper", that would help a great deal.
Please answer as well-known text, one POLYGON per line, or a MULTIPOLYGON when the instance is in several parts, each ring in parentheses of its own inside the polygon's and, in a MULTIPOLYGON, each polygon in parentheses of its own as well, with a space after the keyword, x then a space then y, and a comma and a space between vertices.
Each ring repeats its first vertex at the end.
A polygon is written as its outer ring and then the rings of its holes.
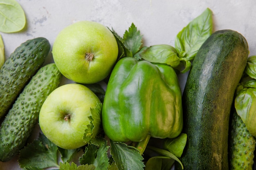
MULTIPOLYGON (((184 170, 228 170, 229 115, 248 57, 240 33, 220 30, 200 47, 188 75, 182 105, 187 144, 184 170)), ((181 167, 176 164, 176 170, 181 167)))

